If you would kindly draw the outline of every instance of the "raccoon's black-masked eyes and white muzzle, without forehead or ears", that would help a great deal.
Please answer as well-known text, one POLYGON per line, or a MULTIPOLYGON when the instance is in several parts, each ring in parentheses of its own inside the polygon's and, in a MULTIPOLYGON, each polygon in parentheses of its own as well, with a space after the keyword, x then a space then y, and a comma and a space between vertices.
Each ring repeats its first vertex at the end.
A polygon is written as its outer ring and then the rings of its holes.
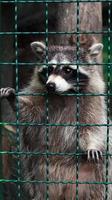
POLYGON ((88 83, 88 74, 78 71, 78 68, 70 64, 52 65, 48 67, 48 79, 46 86, 49 92, 63 93, 81 89, 88 83))

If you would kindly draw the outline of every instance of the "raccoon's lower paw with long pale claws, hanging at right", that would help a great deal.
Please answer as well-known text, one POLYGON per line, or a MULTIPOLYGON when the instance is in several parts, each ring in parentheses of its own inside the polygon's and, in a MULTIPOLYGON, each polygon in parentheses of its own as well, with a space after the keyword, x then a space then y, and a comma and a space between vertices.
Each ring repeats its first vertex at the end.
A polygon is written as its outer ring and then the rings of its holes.
POLYGON ((103 155, 102 155, 102 151, 100 150, 96 150, 96 149, 89 149, 87 151, 87 159, 90 160, 96 160, 99 161, 100 159, 102 159, 103 155))

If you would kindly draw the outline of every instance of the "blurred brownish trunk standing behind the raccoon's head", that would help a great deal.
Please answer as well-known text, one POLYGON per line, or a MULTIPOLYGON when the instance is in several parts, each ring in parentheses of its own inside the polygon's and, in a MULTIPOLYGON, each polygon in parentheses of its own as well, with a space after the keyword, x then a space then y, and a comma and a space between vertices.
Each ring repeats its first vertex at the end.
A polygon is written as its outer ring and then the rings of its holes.
MULTIPOLYGON (((57 31, 77 31, 77 3, 59 3, 57 5, 57 31)), ((102 4, 101 3, 80 3, 79 4, 79 30, 80 31, 101 31, 102 30, 102 4)), ((93 35, 93 34, 92 34, 93 35)), ((101 34, 94 34, 98 41, 101 41, 101 34)), ((56 37, 55 43, 67 45, 70 35, 56 37)), ((100 62, 102 58, 100 58, 100 62)), ((99 67, 102 73, 102 67, 99 67)))

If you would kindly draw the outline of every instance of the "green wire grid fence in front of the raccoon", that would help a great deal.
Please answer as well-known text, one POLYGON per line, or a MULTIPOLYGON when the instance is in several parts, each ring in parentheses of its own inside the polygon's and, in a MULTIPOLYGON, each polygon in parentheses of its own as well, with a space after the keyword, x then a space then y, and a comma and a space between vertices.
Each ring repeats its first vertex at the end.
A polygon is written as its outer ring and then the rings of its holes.
MULTIPOLYGON (((105 185, 105 190, 106 190, 106 195, 105 195, 105 200, 108 199, 108 184, 112 184, 112 182, 109 182, 108 178, 109 178, 109 174, 108 174, 108 166, 109 166, 109 156, 110 151, 109 151, 109 128, 110 126, 112 126, 112 123, 110 121, 110 96, 112 96, 111 93, 111 34, 112 34, 112 30, 111 30, 111 0, 108 1, 108 30, 105 31, 80 31, 80 26, 79 26, 79 14, 80 14, 80 9, 79 9, 79 4, 80 2, 106 2, 105 0, 100 0, 100 1, 96 1, 96 0, 80 0, 80 1, 76 1, 76 0, 0 0, 0 3, 14 3, 15 5, 15 30, 14 32, 0 32, 0 35, 14 35, 15 37, 15 62, 10 62, 11 65, 15 65, 16 64, 16 122, 11 122, 11 123, 7 123, 7 122, 0 122, 0 126, 4 126, 4 125, 13 125, 16 126, 16 144, 17 144, 17 149, 16 151, 0 151, 1 155, 16 155, 17 156, 17 178, 14 179, 0 179, 0 183, 17 183, 17 199, 22 199, 21 193, 22 193, 22 189, 21 189, 21 184, 24 183, 35 183, 35 184, 46 184, 46 199, 49 199, 49 184, 76 184, 76 199, 79 199, 79 195, 78 195, 78 190, 79 190, 79 184, 104 184, 105 185), (18 32, 18 4, 19 3, 39 3, 39 2, 43 2, 45 3, 45 17, 46 17, 46 30, 45 32, 18 32), (48 3, 77 3, 77 29, 76 31, 73 32, 49 32, 48 31, 48 3), (86 94, 81 94, 79 93, 79 76, 77 76, 77 94, 66 94, 68 96, 76 96, 77 99, 77 113, 76 113, 76 123, 60 123, 60 124, 51 124, 49 123, 49 117, 48 117, 48 112, 49 112, 49 101, 48 101, 48 97, 45 93, 33 93, 33 94, 27 94, 27 95, 32 95, 32 96, 45 96, 46 97, 46 123, 20 123, 19 122, 19 104, 18 104, 18 96, 22 95, 22 96, 26 96, 26 94, 18 94, 19 92, 19 82, 18 82, 18 70, 19 70, 19 65, 36 65, 36 64, 40 64, 40 63, 19 63, 18 62, 18 35, 24 34, 24 35, 29 35, 29 34, 33 34, 33 35, 39 35, 39 34, 43 34, 45 35, 46 38, 46 61, 45 65, 48 65, 48 35, 61 35, 61 34, 77 34, 77 62, 76 63, 71 63, 71 64, 75 64, 77 66, 77 72, 79 73, 79 47, 80 47, 80 42, 79 42, 79 34, 108 34, 108 62, 104 63, 102 65, 106 66, 107 68, 107 93, 105 94, 97 94, 97 93, 86 93, 86 94), (106 96, 107 98, 107 123, 106 124, 79 124, 79 111, 80 111, 80 97, 81 96, 106 96), (40 153, 40 152, 21 152, 20 150, 20 130, 19 130, 19 126, 45 126, 46 127, 46 145, 47 145, 47 149, 46 152, 44 153, 40 153), (49 127, 51 126, 76 126, 76 135, 77 135, 77 150, 76 153, 53 153, 53 152, 49 152, 49 127), (106 156, 106 181, 105 182, 80 182, 78 180, 78 176, 79 176, 79 156, 81 156, 83 153, 79 153, 79 128, 80 126, 106 126, 107 127, 107 151, 106 154, 104 156, 106 156), (45 155, 46 156, 46 180, 42 181, 42 180, 22 180, 21 179, 21 160, 20 157, 22 155, 45 155), (49 179, 49 156, 55 156, 55 155, 60 155, 60 156, 76 156, 77 157, 77 164, 76 164, 76 181, 72 181, 72 180, 60 180, 60 181, 56 181, 53 180, 51 181, 49 179)), ((9 64, 9 62, 0 62, 0 65, 7 65, 9 64)), ((84 65, 84 63, 80 63, 80 65, 84 65)), ((87 65, 87 63, 86 63, 87 65)), ((90 64, 89 64, 90 65, 90 64)), ((100 65, 100 63, 97 63, 97 65, 100 65)), ((48 74, 47 74, 48 76, 48 74)), ((65 95, 65 94, 62 94, 65 95)), ((1 197, 1 199, 3 199, 3 197, 1 197)))

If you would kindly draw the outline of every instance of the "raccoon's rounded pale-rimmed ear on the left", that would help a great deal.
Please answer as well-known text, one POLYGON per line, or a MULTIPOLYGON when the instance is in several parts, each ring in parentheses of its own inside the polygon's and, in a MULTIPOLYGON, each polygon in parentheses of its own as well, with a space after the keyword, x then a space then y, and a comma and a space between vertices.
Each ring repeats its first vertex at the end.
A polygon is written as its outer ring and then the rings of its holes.
POLYGON ((43 56, 45 55, 45 49, 46 49, 45 44, 43 42, 35 41, 32 42, 30 46, 32 48, 32 51, 36 54, 37 58, 39 60, 42 60, 43 56))

